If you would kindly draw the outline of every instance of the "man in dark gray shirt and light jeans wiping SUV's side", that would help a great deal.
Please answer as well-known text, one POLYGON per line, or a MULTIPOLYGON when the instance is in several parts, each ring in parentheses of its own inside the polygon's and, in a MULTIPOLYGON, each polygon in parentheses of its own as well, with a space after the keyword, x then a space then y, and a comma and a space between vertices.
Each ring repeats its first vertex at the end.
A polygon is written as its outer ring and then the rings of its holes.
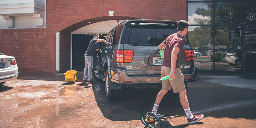
MULTIPOLYGON (((96 49, 93 47, 95 43, 103 42, 104 39, 99 39, 99 34, 94 34, 93 39, 90 41, 87 51, 84 53, 84 60, 85 60, 85 67, 84 67, 84 81, 90 82, 93 84, 92 81, 92 67, 93 67, 93 57, 96 51, 100 49, 96 49)), ((105 44, 108 44, 107 41, 104 41, 105 44)))

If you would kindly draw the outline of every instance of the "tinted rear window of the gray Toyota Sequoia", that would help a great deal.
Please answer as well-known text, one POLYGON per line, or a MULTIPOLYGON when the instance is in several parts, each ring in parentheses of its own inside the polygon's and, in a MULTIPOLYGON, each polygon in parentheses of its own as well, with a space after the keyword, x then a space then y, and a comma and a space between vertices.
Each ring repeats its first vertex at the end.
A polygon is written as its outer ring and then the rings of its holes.
POLYGON ((175 26, 132 25, 129 44, 159 45, 169 35, 178 32, 175 26))

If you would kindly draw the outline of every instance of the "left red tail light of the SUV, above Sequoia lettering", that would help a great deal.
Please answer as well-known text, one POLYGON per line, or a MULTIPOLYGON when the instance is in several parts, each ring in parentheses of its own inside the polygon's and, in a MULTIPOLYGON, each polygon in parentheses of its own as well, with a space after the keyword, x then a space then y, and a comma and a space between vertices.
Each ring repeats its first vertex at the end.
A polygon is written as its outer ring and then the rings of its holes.
POLYGON ((118 63, 130 63, 133 58, 133 50, 116 50, 115 58, 118 63))

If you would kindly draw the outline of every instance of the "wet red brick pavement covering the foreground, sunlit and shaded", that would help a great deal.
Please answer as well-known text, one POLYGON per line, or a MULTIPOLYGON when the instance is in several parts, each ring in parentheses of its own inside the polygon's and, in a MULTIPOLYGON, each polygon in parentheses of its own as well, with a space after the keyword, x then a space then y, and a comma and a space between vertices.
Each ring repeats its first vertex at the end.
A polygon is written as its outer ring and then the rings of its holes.
MULTIPOLYGON (((203 76, 186 87, 192 113, 204 118, 188 124, 181 116, 162 120, 161 128, 255 128, 256 80, 239 76, 203 76)), ((104 82, 65 83, 64 74, 20 73, 0 87, 2 128, 145 128, 158 89, 121 90, 118 100, 105 97, 104 82)), ((184 115, 179 97, 168 94, 159 105, 164 116, 184 115)), ((159 122, 148 123, 159 127, 159 122)))

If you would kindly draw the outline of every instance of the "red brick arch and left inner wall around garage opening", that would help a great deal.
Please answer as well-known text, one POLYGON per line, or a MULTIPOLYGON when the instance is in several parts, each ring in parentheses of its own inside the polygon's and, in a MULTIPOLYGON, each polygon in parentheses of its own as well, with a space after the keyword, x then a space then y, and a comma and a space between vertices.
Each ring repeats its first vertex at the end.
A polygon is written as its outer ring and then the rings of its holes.
POLYGON ((86 25, 107 21, 107 20, 135 20, 135 19, 157 19, 148 15, 135 13, 135 12, 120 12, 115 11, 113 16, 109 15, 109 12, 99 12, 85 15, 83 17, 76 18, 68 21, 66 24, 61 25, 53 31, 53 33, 60 32, 60 70, 59 72, 65 72, 70 70, 70 41, 71 32, 82 28, 86 25))

